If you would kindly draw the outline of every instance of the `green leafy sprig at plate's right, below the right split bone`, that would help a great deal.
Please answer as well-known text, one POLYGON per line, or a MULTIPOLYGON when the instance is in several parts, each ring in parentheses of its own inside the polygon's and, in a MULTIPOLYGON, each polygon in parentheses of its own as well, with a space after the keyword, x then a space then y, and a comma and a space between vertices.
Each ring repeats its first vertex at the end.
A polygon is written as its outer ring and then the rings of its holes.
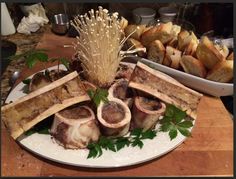
POLYGON ((193 123, 187 118, 185 111, 174 105, 167 105, 164 117, 160 120, 160 131, 169 132, 171 140, 177 137, 178 131, 182 135, 189 137, 191 133, 188 129, 193 126, 193 123))

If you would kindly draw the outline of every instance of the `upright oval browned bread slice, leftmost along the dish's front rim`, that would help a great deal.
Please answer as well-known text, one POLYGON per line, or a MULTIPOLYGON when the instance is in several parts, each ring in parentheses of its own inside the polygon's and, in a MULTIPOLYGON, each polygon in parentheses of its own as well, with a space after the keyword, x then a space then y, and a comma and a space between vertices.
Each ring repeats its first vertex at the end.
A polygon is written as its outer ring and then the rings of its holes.
POLYGON ((165 56, 165 47, 160 40, 155 40, 150 44, 147 57, 149 60, 162 64, 165 56))

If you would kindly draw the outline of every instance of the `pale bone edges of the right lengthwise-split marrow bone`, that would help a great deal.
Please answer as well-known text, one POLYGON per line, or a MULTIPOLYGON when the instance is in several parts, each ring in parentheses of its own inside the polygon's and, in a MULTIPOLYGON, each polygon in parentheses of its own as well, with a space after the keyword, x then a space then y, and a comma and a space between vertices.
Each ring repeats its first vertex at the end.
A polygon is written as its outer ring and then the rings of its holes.
MULTIPOLYGON (((172 77, 160 72, 160 71, 157 71, 155 69, 152 69, 150 67, 148 67, 147 65, 141 63, 141 62, 138 62, 136 67, 140 67, 141 69, 147 71, 148 73, 150 73, 151 75, 154 75, 158 78, 160 78, 161 80, 169 83, 169 84, 172 84, 176 87, 181 87, 181 89, 183 90, 183 93, 191 93, 192 95, 194 95, 198 101, 197 103, 199 103, 201 97, 203 96, 201 93, 198 93, 190 88, 187 88, 186 86, 182 85, 181 83, 179 83, 178 81, 176 81, 175 79, 173 79, 172 77)), ((132 88, 135 88, 135 89, 138 89, 138 90, 141 90, 141 91, 144 91, 146 93, 149 93, 161 100, 163 100, 164 102, 166 103, 169 103, 169 104, 174 104, 175 106, 177 107, 180 107, 182 110, 186 110, 186 109, 183 109, 183 107, 173 98, 174 97, 174 94, 173 94, 173 97, 171 96, 168 96, 162 92, 159 92, 157 89, 151 87, 151 86, 148 86, 147 84, 142 84, 140 82, 136 82, 136 81, 132 81, 134 79, 135 76, 135 70, 131 76, 131 80, 129 82, 129 87, 132 87, 132 88)), ((196 104, 197 106, 198 104, 196 104)), ((196 119, 197 117, 197 107, 196 109, 187 109, 186 110, 186 113, 192 117, 193 119, 196 119)))

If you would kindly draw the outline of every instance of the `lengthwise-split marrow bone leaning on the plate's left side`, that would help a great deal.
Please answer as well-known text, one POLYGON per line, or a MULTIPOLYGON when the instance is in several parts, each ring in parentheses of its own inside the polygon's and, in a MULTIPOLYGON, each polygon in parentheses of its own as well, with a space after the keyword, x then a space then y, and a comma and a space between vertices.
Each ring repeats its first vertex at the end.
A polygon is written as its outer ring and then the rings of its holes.
POLYGON ((16 139, 43 119, 73 104, 90 100, 77 72, 2 107, 2 119, 16 139))

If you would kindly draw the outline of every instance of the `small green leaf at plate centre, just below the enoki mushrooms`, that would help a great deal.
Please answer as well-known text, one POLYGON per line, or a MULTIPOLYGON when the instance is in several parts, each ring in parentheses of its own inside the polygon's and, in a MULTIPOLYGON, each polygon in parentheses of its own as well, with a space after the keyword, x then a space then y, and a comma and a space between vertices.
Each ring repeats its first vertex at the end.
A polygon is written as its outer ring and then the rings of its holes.
POLYGON ((95 91, 88 90, 87 93, 97 107, 99 106, 101 101, 105 103, 108 102, 108 99, 107 99, 108 91, 105 89, 97 88, 95 91))

